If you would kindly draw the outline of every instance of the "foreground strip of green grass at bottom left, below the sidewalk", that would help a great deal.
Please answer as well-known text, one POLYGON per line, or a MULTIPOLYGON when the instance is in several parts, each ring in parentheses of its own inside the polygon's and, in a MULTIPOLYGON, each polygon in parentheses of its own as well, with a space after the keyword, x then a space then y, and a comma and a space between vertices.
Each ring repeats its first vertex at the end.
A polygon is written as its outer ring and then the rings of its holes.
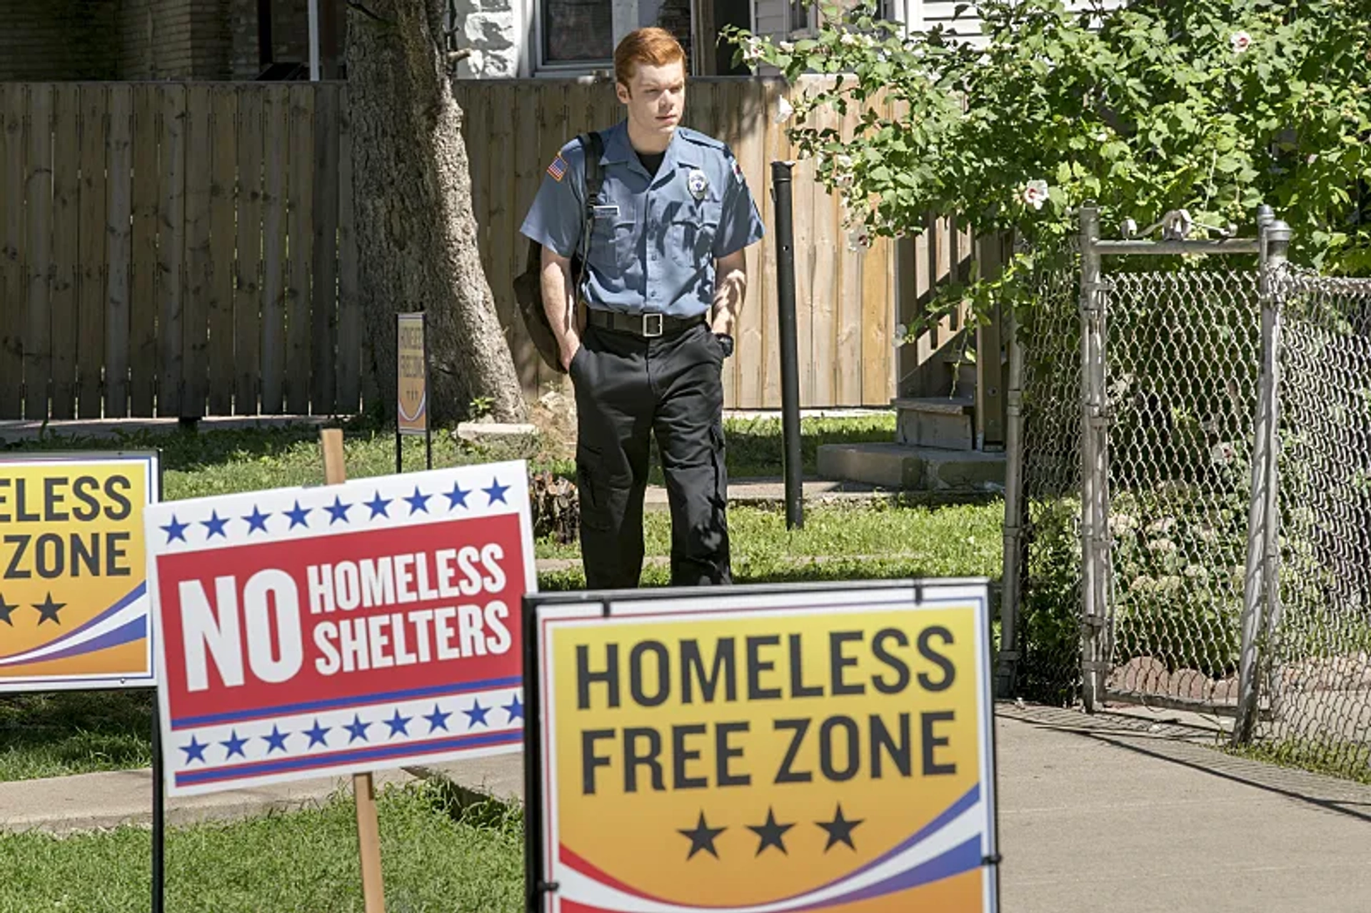
MULTIPOLYGON (((517 913, 524 892, 518 813, 454 806, 439 786, 380 791, 389 913, 517 913)), ((319 809, 167 831, 170 913, 361 913, 351 794, 319 809)), ((0 838, 0 913, 147 913, 145 828, 0 838)))

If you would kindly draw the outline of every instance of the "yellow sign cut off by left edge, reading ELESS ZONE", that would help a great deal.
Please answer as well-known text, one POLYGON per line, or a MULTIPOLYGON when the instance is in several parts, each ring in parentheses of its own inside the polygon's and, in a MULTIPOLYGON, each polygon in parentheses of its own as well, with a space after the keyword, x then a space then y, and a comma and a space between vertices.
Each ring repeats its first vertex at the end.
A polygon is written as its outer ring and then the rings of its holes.
POLYGON ((147 688, 156 454, 0 456, 0 691, 147 688))

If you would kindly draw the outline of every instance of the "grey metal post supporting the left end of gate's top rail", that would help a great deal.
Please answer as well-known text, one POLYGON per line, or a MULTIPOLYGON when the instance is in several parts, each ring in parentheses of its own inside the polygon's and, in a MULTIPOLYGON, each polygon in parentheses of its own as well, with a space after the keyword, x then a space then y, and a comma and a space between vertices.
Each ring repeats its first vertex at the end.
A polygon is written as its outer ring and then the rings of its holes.
POLYGON ((1094 200, 1080 208, 1080 683, 1082 701, 1093 713, 1101 695, 1106 569, 1100 546, 1105 536, 1101 496, 1104 454, 1097 429, 1104 417, 1104 340, 1100 326, 1100 210, 1094 200))

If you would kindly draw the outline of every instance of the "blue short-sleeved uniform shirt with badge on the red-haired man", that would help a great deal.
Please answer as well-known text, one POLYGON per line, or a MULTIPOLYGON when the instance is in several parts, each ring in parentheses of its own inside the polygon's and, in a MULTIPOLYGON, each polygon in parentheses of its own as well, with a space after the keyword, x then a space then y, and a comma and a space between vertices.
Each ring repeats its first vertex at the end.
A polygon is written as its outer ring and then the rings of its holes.
MULTIPOLYGON (((628 141, 627 121, 602 137, 603 182, 581 287, 585 303, 628 314, 707 314, 714 259, 764 233, 738 160, 724 143, 677 127, 651 177, 628 141)), ((572 256, 584 226, 584 149, 572 140, 543 173, 520 232, 572 256)))

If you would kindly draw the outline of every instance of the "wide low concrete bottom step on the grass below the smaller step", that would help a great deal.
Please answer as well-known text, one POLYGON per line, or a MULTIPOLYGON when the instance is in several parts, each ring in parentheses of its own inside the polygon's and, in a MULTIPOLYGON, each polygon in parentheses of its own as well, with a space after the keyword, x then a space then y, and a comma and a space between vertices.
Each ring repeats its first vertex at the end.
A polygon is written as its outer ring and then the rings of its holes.
POLYGON ((820 444, 818 474, 901 491, 1004 494, 1005 455, 902 444, 820 444))

